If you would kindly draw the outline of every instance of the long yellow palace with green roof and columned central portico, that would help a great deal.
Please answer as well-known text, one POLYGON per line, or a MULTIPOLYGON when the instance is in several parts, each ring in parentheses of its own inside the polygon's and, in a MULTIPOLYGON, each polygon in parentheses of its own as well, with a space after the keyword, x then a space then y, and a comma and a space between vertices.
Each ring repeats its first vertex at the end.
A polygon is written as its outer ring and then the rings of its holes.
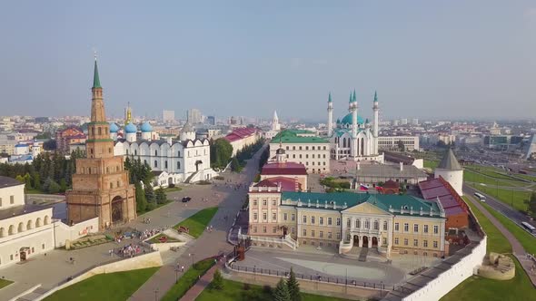
POLYGON ((249 188, 248 237, 253 244, 291 248, 374 248, 390 257, 448 254, 441 204, 409 195, 283 191, 281 184, 249 188))

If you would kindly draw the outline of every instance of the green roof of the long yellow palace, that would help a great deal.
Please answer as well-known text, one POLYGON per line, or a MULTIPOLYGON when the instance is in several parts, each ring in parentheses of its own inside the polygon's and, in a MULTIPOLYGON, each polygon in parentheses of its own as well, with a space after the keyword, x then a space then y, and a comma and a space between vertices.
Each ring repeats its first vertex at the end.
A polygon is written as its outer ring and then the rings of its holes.
POLYGON ((395 215, 410 215, 410 210, 413 209, 413 216, 420 216, 422 208, 422 216, 430 217, 430 209, 432 209, 433 217, 437 218, 440 215, 440 208, 434 201, 419 199, 409 195, 397 194, 372 194, 372 193, 353 193, 353 192, 290 192, 283 191, 281 196, 282 201, 292 200, 298 206, 298 201, 302 202, 302 207, 307 207, 311 201, 311 208, 316 208, 316 201, 320 204, 319 209, 324 209, 325 203, 328 204, 328 209, 333 209, 333 202, 337 206, 337 210, 351 208, 368 202, 379 209, 390 212, 395 215), (346 203, 346 207, 344 207, 346 203), (403 209, 403 213, 400 213, 403 209))

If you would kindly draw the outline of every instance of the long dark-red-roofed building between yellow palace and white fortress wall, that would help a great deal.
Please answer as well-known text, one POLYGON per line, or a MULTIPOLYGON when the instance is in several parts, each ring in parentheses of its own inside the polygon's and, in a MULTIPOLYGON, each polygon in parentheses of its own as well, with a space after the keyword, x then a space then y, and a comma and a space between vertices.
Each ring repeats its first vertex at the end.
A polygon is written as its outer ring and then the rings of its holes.
POLYGON ((442 177, 424 180, 419 183, 422 199, 434 200, 441 203, 445 210, 447 221, 445 227, 467 228, 469 227, 469 209, 462 197, 442 177))

